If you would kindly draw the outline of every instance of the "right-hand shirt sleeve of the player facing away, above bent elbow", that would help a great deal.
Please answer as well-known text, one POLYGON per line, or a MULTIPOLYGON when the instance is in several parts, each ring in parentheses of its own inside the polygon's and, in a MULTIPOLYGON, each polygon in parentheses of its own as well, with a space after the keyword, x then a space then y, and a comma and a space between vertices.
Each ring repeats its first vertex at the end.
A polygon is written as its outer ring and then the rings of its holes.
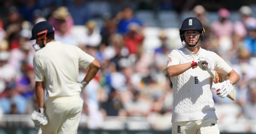
POLYGON ((85 53, 79 47, 77 47, 77 49, 79 53, 79 66, 84 67, 84 69, 86 69, 95 58, 89 55, 88 53, 85 53))

